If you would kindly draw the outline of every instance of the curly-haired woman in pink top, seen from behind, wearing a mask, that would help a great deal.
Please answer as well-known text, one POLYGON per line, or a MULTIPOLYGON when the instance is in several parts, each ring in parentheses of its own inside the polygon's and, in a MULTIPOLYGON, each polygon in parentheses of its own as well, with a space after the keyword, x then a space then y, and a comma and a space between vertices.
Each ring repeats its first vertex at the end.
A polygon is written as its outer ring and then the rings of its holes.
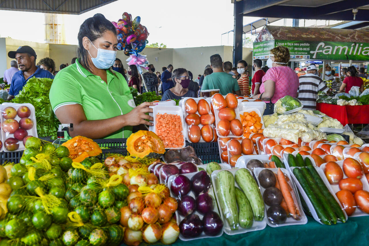
POLYGON ((274 113, 274 104, 284 96, 297 97, 299 77, 288 67, 290 51, 287 47, 277 46, 270 50, 271 58, 266 65, 270 67, 262 78, 260 94, 254 99, 261 99, 266 103, 264 115, 274 113))

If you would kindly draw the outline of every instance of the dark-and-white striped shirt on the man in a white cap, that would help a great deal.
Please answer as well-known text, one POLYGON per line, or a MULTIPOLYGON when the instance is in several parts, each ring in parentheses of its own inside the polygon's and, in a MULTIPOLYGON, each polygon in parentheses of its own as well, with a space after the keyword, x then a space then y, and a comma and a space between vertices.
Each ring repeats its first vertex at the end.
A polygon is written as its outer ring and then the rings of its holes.
POLYGON ((307 73, 299 77, 299 100, 306 110, 315 110, 317 105, 318 91, 327 92, 329 88, 324 84, 323 80, 314 75, 307 73))

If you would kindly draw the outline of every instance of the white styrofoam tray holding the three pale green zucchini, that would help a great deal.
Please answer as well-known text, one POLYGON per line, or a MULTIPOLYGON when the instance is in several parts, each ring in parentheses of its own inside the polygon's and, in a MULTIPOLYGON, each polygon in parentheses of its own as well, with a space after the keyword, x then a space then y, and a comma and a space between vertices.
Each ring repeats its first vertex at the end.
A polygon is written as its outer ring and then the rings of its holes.
MULTIPOLYGON (((228 170, 228 171, 230 171, 232 173, 232 175, 234 176, 234 174, 236 173, 237 170, 239 170, 239 169, 231 169, 231 170, 228 170)), ((215 170, 211 174, 211 181, 213 182, 213 187, 214 187, 214 191, 215 191, 214 193, 215 193, 215 197, 217 198, 217 201, 219 201, 218 192, 217 192, 218 187, 216 186, 216 181, 215 180, 217 179, 217 174, 220 171, 222 171, 222 170, 215 170)), ((239 188, 236 181, 234 182, 234 185, 235 185, 235 187, 239 188)), ((242 191, 241 188, 240 188, 240 190, 242 191)), ((220 215, 221 215, 221 218, 222 218, 222 221, 223 221, 223 224, 224 224, 223 230, 224 230, 225 234, 237 235, 237 234, 242 234, 242 233, 246 233, 246 232, 253 232, 253 231, 263 230, 266 227, 266 211, 264 211, 263 220, 262 221, 255 221, 254 220, 254 222, 252 223, 251 228, 244 229, 241 226, 238 226, 237 230, 232 231, 231 228, 230 228, 230 225, 228 224, 228 221, 224 218, 224 214, 223 214, 223 211, 222 211, 222 208, 221 208, 220 204, 218 204, 218 207, 219 207, 220 215)))

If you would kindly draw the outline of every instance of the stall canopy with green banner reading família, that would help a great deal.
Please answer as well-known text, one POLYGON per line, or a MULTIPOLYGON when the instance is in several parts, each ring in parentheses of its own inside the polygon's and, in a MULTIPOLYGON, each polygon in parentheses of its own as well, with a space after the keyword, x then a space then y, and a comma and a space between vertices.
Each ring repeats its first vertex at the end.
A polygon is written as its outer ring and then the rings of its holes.
POLYGON ((255 39, 253 59, 268 59, 277 45, 287 46, 291 59, 369 60, 369 30, 266 25, 255 39))

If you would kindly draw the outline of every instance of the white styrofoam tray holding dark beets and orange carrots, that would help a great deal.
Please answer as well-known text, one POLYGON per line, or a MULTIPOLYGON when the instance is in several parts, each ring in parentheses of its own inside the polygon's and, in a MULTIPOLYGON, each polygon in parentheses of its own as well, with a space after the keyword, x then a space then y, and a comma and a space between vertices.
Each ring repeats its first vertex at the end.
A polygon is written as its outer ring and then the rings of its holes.
MULTIPOLYGON (((258 181, 258 185, 259 188, 261 190, 261 194, 264 194, 264 191, 266 190, 264 187, 262 187, 260 185, 260 181, 259 181, 259 173, 264 170, 265 168, 262 167, 256 167, 254 169, 254 174, 256 177, 256 180, 258 181)), ((278 169, 277 168, 268 168, 269 170, 271 170, 273 173, 277 174, 278 169)), ((268 224, 270 227, 280 227, 280 226, 287 226, 287 225, 305 225, 307 223, 307 217, 302 209, 301 206, 301 201, 300 201, 300 197, 299 197, 299 193, 297 193, 297 188, 296 185, 294 184, 294 182, 291 179, 291 175, 289 173, 289 171, 287 171, 287 169, 281 168, 280 169, 284 174, 286 174, 288 176, 288 178, 290 179, 290 184, 292 185, 292 189, 294 192, 294 202, 295 204, 297 204, 297 208, 300 211, 300 215, 301 215, 301 219, 299 221, 295 220, 294 218, 292 218, 292 216, 287 217, 286 222, 284 222, 283 224, 279 224, 279 225, 274 225, 272 223, 269 222, 269 219, 266 219, 266 224, 268 224)), ((265 210, 268 211, 269 206, 265 204, 265 210)))

